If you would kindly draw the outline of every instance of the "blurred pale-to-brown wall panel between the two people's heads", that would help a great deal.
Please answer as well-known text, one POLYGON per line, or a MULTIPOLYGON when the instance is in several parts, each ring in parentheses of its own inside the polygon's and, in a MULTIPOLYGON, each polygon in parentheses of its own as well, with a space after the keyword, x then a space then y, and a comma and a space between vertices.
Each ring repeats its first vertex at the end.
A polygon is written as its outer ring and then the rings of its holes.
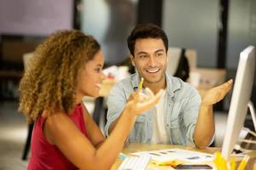
POLYGON ((107 65, 128 58, 126 39, 137 21, 137 0, 83 0, 82 31, 101 43, 107 65))

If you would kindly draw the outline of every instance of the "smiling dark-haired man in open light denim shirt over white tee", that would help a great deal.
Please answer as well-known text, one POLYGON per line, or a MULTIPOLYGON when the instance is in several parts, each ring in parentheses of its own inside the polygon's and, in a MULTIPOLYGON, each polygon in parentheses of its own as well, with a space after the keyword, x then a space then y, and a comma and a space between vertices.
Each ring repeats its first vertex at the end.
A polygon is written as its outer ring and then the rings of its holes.
POLYGON ((211 144, 215 130, 212 105, 224 98, 232 80, 210 89, 201 99, 189 83, 166 71, 168 38, 160 27, 137 25, 127 42, 137 73, 118 82, 111 90, 105 133, 112 132, 125 103, 137 93, 143 77, 143 88, 150 88, 154 94, 164 89, 164 94, 154 109, 137 117, 128 142, 194 144, 198 148, 211 144))

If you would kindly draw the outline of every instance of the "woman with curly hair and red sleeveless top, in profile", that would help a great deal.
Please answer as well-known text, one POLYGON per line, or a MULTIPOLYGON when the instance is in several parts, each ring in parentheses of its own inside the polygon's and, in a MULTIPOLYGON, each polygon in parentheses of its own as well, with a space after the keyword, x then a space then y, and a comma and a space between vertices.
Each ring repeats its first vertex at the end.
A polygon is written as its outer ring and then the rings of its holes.
POLYGON ((109 169, 136 117, 159 101, 161 92, 135 92, 105 139, 82 103, 99 95, 103 62, 99 43, 80 31, 57 31, 38 46, 20 81, 20 111, 34 122, 28 169, 109 169))

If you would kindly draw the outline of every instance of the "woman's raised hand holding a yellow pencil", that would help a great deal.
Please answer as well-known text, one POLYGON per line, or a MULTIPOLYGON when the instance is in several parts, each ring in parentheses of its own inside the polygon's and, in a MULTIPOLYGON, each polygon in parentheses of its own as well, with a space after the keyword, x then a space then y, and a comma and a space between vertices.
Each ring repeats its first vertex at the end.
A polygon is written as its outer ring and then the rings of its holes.
POLYGON ((154 107, 154 105, 159 102, 163 93, 162 89, 160 89, 160 91, 155 95, 149 88, 145 88, 145 90, 147 94, 144 94, 142 90, 138 90, 131 94, 126 105, 127 109, 136 116, 141 115, 144 111, 148 111, 154 107))

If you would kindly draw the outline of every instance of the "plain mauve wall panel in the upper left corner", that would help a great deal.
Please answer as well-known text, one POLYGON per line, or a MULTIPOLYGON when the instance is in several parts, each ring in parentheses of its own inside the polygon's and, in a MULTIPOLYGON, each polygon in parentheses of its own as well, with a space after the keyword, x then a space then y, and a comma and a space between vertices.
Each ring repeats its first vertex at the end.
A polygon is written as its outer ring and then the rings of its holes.
POLYGON ((73 28, 73 0, 0 0, 0 34, 47 36, 73 28))

